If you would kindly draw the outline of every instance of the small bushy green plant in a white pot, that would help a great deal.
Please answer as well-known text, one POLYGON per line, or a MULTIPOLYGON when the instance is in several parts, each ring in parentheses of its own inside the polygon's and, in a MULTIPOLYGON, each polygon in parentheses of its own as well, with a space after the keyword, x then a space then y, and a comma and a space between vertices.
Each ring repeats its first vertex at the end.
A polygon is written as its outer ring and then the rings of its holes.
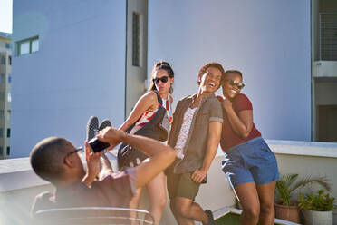
POLYGON ((305 224, 332 225, 334 198, 325 194, 323 189, 317 194, 299 195, 299 206, 303 210, 305 224))

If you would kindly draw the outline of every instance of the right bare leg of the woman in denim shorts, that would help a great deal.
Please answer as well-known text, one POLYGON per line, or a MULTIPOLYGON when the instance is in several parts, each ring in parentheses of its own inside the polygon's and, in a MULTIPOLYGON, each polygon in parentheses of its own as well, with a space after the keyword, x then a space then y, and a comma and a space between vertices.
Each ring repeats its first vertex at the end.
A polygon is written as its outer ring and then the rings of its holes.
POLYGON ((274 211, 274 191, 276 181, 257 185, 256 189, 260 199, 260 224, 271 225, 274 224, 275 211, 274 211))

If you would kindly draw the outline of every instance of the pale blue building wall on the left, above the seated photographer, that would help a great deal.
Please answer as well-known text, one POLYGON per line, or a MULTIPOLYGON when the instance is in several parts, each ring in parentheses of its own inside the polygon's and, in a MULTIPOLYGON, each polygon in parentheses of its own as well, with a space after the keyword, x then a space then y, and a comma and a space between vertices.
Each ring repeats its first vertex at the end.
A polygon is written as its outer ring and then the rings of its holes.
POLYGON ((13 58, 11 157, 48 136, 82 145, 91 115, 123 122, 126 1, 17 0, 13 8, 14 45, 39 36, 39 50, 13 58))

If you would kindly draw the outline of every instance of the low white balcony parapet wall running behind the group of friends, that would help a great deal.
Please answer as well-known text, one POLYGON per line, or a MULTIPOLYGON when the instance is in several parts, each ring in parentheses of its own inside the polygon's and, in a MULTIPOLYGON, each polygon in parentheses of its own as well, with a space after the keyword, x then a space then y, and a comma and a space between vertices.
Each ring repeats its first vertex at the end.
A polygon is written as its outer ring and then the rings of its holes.
MULTIPOLYGON (((336 143, 288 141, 267 141, 267 143, 276 155, 281 174, 298 173, 300 177, 326 176, 332 184, 332 196, 337 197, 336 143)), ((223 153, 219 148, 216 159, 208 171, 207 184, 201 185, 196 199, 204 209, 215 211, 235 204, 234 193, 231 191, 226 175, 221 171, 223 159, 223 153)), ((116 166, 115 161, 112 162, 116 166)), ((312 186, 311 190, 302 191, 315 191, 318 188, 318 186, 312 186)), ((0 161, 0 199, 2 200, 0 207, 3 209, 0 212, 0 224, 29 224, 27 221, 30 220, 29 210, 34 196, 52 189, 46 181, 34 175, 28 158, 0 161)), ((144 197, 140 207, 147 209, 146 194, 144 197)), ((294 198, 296 197, 297 193, 294 194, 294 198)), ((334 217, 337 223, 336 213, 334 217)), ((168 203, 160 224, 176 224, 168 203)))

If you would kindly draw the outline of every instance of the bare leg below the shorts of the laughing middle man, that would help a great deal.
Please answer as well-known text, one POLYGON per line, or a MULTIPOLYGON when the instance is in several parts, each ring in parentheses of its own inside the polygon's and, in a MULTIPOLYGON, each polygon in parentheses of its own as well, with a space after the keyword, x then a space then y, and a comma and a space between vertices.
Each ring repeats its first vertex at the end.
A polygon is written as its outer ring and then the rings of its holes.
POLYGON ((175 198, 175 210, 177 214, 183 218, 179 218, 181 223, 178 221, 179 225, 183 224, 194 224, 194 220, 202 221, 203 224, 207 224, 208 217, 204 210, 191 199, 184 197, 175 198), (192 223, 190 223, 192 222, 192 223))

